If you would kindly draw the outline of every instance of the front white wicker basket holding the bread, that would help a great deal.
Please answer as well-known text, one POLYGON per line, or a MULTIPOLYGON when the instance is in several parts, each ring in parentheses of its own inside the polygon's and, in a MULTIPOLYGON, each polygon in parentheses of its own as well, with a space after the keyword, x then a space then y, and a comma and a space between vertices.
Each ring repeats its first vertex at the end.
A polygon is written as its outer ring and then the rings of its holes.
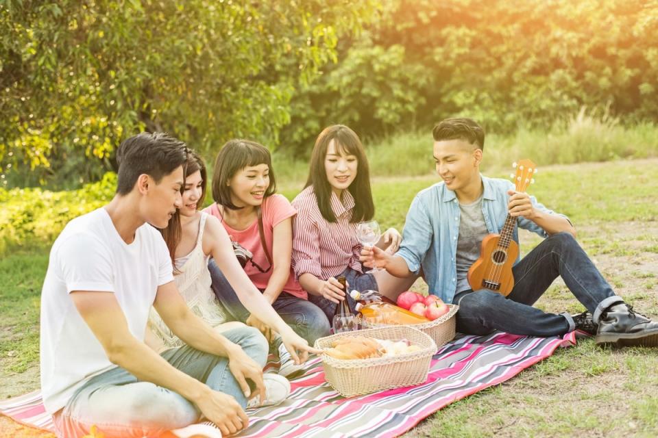
POLYGON ((335 359, 322 355, 326 381, 343 397, 352 397, 384 389, 418 385, 427 380, 430 360, 437 350, 432 338, 409 326, 387 326, 358 332, 337 333, 315 341, 315 348, 330 348, 332 341, 346 336, 365 336, 400 341, 407 339, 422 350, 393 357, 374 359, 335 359))

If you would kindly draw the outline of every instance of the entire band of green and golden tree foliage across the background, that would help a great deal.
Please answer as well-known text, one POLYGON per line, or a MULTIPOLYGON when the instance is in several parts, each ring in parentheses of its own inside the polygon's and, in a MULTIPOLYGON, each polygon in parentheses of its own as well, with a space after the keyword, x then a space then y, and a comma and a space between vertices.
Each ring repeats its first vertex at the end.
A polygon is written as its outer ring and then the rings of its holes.
POLYGON ((658 0, 0 0, 10 186, 98 180, 143 129, 306 157, 332 123, 509 133, 583 107, 658 118, 658 0))

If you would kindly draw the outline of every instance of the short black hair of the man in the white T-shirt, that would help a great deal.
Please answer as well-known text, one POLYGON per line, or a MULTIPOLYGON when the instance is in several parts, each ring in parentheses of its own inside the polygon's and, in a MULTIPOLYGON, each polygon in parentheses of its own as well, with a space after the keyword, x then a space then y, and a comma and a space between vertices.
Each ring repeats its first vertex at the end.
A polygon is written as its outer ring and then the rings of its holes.
POLYGON ((146 174, 159 184, 187 161, 187 146, 167 133, 139 133, 123 140, 117 150, 117 194, 129 194, 139 175, 146 174))

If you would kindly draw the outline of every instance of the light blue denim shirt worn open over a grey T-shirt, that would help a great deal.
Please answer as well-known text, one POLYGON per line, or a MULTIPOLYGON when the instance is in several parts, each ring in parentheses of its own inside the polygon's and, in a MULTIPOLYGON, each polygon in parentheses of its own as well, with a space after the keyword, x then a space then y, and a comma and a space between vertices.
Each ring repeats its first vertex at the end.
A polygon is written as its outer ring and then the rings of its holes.
MULTIPOLYGON (((514 185, 507 179, 482 177, 484 193, 482 213, 489 233, 500 233, 507 219, 508 190, 514 185)), ((535 209, 555 214, 531 196, 535 209)), ((406 215, 402 245, 396 255, 406 261, 409 270, 419 272, 422 267, 430 294, 444 302, 452 302, 457 282, 455 254, 459 237, 459 201, 454 191, 448 190, 443 182, 419 192, 406 215)), ((559 215, 567 218, 564 215, 559 215)), ((568 218, 567 218, 568 220, 568 218)), ((541 237, 548 233, 532 220, 519 217, 518 227, 533 231, 541 237)), ((518 227, 514 228, 513 239, 519 243, 518 227)), ((517 258, 516 262, 520 260, 517 258)))

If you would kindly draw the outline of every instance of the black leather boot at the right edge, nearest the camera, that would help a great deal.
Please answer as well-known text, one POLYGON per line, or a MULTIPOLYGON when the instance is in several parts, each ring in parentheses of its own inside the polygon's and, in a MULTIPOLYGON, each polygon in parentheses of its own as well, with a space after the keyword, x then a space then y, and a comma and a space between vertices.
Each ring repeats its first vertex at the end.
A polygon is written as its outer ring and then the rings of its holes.
POLYGON ((633 311, 625 302, 611 305, 598 320, 596 344, 658 346, 658 322, 633 311))

